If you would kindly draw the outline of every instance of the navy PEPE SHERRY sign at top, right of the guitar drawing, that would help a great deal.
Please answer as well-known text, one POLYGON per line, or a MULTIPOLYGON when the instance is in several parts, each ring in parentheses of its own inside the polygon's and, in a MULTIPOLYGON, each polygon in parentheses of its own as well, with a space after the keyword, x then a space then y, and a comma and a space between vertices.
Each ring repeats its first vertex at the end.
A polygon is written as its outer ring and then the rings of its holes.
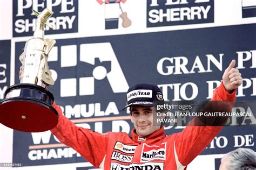
POLYGON ((214 22, 213 0, 149 0, 147 27, 203 24, 214 22))

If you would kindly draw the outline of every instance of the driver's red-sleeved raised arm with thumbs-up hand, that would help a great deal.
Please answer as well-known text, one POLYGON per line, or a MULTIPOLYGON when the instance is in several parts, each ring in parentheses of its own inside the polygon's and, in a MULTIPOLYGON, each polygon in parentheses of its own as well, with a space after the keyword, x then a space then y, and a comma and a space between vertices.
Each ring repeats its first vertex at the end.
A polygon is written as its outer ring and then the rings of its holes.
MULTIPOLYGON (((213 105, 214 110, 224 108, 230 111, 235 101, 236 88, 241 85, 242 77, 238 69, 233 68, 235 60, 232 60, 223 74, 223 81, 220 86, 214 90, 212 101, 233 101, 233 102, 217 102, 213 105)), ((213 102, 214 103, 214 102, 213 102)), ((207 110, 207 108, 206 108, 207 110)), ((194 158, 197 157, 212 139, 217 136, 223 126, 216 126, 215 122, 225 123, 227 117, 212 117, 215 126, 198 126, 197 118, 194 118, 186 128, 178 133, 174 139, 174 149, 176 150, 177 165, 187 166, 194 158), (223 118, 225 119, 223 122, 223 118), (215 121, 215 122, 214 122, 215 121)))

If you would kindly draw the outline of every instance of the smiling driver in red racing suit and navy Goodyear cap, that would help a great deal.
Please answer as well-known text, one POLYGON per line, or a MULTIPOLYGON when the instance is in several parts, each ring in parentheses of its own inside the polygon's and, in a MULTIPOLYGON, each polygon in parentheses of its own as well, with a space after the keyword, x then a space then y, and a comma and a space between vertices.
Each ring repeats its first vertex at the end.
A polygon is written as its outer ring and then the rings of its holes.
MULTIPOLYGON (((236 88, 242 83, 235 60, 223 74, 223 82, 215 89, 212 100, 234 101, 236 88)), ((221 126, 190 126, 180 133, 166 136, 163 126, 153 125, 153 101, 162 101, 157 86, 137 84, 127 92, 127 105, 134 125, 130 137, 124 132, 100 134, 77 127, 62 115, 51 132, 65 145, 74 148, 95 167, 104 169, 185 169, 211 140, 221 126), (139 93, 138 93, 139 92, 139 93)), ((194 120, 194 119, 193 119, 194 120)))

